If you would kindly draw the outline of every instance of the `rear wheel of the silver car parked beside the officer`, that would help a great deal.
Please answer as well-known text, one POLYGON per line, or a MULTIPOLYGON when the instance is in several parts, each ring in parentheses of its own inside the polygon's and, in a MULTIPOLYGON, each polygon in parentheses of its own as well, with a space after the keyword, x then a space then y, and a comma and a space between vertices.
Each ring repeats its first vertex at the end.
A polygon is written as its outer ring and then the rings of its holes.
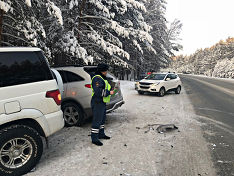
POLYGON ((62 105, 63 118, 67 127, 81 126, 84 120, 84 114, 81 108, 72 102, 62 105))

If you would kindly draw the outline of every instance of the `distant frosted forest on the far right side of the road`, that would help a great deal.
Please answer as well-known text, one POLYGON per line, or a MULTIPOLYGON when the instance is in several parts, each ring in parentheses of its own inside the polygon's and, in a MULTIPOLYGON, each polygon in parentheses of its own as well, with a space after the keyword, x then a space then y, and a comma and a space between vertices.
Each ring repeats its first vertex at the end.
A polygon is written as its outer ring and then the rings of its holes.
POLYGON ((199 49, 190 56, 172 57, 170 69, 220 78, 234 78, 234 38, 199 49))

